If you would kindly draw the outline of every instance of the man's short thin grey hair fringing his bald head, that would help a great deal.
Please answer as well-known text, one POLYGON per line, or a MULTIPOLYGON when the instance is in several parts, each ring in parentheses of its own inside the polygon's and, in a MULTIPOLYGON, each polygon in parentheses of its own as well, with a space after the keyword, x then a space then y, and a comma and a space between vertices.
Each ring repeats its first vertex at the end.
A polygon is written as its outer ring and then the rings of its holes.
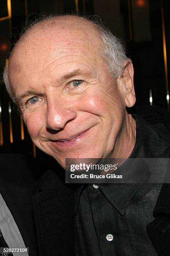
MULTIPOLYGON (((69 15, 50 15, 48 17, 43 16, 40 19, 35 20, 30 26, 25 30, 25 32, 20 36, 22 38, 28 31, 38 23, 44 22, 46 20, 55 20, 61 16, 69 15)), ((74 15, 79 16, 79 15, 74 15)), ((80 16, 81 17, 81 16, 80 16)), ((94 16, 96 18, 96 16, 94 16)), ((105 59, 109 72, 112 74, 113 78, 118 78, 122 76, 123 63, 128 58, 125 54, 125 48, 122 45, 120 39, 112 34, 109 28, 107 28, 101 20, 92 19, 89 17, 81 17, 92 23, 95 29, 99 32, 100 38, 102 39, 102 49, 100 55, 105 59)), ((3 73, 3 79, 6 86, 6 90, 10 97, 13 97, 13 88, 10 84, 8 77, 8 66, 6 65, 3 73)))

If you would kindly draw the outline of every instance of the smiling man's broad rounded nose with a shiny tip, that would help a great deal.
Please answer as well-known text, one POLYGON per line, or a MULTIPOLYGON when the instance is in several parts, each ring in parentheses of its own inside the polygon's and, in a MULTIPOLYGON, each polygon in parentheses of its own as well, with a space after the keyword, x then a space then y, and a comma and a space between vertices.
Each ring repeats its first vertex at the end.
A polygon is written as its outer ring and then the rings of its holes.
POLYGON ((52 100, 47 103, 47 129, 59 131, 63 129, 67 122, 76 118, 76 112, 69 102, 52 100))

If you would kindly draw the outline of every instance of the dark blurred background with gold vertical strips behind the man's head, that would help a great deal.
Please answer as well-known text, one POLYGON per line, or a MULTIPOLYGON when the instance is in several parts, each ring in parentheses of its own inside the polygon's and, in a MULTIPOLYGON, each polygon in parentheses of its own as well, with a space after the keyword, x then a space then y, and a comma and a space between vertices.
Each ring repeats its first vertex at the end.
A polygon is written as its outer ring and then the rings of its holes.
POLYGON ((50 13, 99 15, 133 60, 137 105, 169 110, 169 11, 169 0, 0 0, 0 153, 42 157, 2 81, 9 53, 26 24, 50 13))

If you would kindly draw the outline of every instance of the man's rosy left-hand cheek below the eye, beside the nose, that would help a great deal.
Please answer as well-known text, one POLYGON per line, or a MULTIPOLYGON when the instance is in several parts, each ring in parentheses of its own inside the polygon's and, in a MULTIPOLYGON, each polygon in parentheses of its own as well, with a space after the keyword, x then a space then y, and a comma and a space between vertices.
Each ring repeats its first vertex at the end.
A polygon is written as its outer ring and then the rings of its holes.
POLYGON ((40 115, 37 115, 37 113, 26 113, 23 115, 23 120, 27 126, 30 137, 36 139, 45 124, 43 119, 40 115))

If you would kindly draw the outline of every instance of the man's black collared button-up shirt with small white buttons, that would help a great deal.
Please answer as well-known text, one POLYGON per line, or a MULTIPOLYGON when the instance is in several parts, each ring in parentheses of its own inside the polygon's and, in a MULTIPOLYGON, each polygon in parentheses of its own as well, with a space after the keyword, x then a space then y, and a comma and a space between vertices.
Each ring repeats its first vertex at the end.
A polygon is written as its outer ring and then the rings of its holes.
MULTIPOLYGON (((169 157, 164 125, 138 115, 131 158, 169 157), (161 126, 161 129, 160 129, 161 126)), ((146 227, 153 218, 161 184, 88 184, 76 194, 76 256, 156 256, 146 227)))

